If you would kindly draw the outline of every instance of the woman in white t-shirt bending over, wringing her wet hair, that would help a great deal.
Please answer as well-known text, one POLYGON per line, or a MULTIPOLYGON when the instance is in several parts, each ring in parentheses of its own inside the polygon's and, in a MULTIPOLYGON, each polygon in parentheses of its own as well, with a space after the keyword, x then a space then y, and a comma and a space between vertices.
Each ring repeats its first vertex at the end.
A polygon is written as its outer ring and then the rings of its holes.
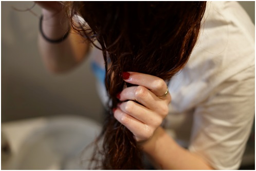
POLYGON ((239 167, 254 116, 254 26, 237 3, 38 4, 39 46, 51 71, 81 63, 89 41, 80 35, 102 48, 104 60, 94 63, 97 71, 105 63, 113 110, 103 132, 103 168, 140 168, 140 149, 162 169, 239 167), (93 31, 73 19, 67 34, 66 9, 93 31))

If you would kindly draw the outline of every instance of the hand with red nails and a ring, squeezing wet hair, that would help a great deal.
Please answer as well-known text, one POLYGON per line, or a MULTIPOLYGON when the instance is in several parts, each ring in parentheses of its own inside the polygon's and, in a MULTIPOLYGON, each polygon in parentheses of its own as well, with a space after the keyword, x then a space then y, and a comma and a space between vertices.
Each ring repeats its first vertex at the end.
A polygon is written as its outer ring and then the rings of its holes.
POLYGON ((136 72, 123 73, 123 79, 138 86, 125 88, 117 95, 125 102, 118 104, 114 116, 137 141, 147 141, 168 114, 171 95, 167 84, 156 76, 136 72))

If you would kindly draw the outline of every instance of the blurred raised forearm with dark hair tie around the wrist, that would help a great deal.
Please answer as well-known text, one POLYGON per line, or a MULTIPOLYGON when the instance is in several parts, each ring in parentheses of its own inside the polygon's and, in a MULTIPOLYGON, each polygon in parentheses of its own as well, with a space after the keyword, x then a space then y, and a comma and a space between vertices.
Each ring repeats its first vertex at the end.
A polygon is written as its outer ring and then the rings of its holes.
POLYGON ((89 43, 72 29, 68 30, 70 22, 63 12, 53 14, 43 9, 42 13, 42 30, 47 38, 56 40, 70 32, 65 40, 57 44, 47 41, 39 33, 39 50, 46 67, 56 73, 74 68, 84 58, 89 43))

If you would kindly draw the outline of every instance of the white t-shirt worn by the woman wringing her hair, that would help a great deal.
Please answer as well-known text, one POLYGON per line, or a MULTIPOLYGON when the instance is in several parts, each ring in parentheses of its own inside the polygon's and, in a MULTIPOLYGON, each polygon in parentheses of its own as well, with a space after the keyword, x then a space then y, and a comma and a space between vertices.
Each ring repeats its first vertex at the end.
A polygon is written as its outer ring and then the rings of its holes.
MULTIPOLYGON (((164 126, 215 169, 237 169, 254 120, 254 25, 237 2, 208 2, 202 23, 187 65, 169 83, 164 126)), ((104 70, 102 53, 92 53, 104 70)), ((103 82, 97 86, 105 103, 103 82)))

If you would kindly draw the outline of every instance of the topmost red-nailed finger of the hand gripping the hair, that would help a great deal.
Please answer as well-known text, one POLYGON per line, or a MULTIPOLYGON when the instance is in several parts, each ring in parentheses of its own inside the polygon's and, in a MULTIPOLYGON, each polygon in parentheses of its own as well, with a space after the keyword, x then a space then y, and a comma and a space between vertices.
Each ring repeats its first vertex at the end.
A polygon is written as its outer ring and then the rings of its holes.
MULTIPOLYGON (((163 79, 137 72, 124 72, 123 79, 125 82, 129 82, 135 85, 143 86, 152 91, 156 96, 161 97, 167 92, 167 84, 163 79)), ((170 98, 168 93, 166 97, 170 98)))

